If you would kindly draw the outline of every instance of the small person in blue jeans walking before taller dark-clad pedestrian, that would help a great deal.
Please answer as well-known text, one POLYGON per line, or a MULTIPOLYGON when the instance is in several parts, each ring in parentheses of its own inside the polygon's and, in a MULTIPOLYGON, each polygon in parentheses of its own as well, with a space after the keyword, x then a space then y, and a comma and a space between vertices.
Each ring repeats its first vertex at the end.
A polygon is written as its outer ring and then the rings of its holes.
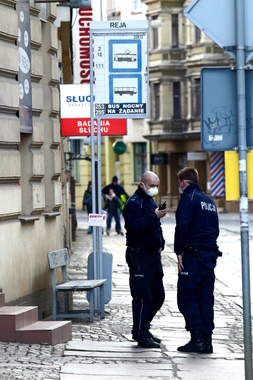
POLYGON ((119 199, 116 196, 113 189, 110 189, 108 196, 107 196, 107 205, 106 205, 106 208, 107 208, 106 233, 107 233, 107 235, 110 234, 112 218, 115 219, 115 222, 116 222, 115 229, 116 229, 117 233, 124 235, 123 231, 121 230, 120 217, 119 217, 119 207, 120 207, 119 199))

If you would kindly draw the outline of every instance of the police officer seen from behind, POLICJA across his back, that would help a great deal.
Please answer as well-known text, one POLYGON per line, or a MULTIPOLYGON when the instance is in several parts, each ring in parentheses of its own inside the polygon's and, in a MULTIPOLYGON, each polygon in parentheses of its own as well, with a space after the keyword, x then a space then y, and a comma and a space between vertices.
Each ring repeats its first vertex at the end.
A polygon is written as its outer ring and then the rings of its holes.
POLYGON ((181 199, 176 211, 174 252, 178 258, 178 309, 191 340, 181 352, 212 353, 214 268, 218 250, 218 215, 214 201, 198 186, 195 168, 178 173, 181 199))

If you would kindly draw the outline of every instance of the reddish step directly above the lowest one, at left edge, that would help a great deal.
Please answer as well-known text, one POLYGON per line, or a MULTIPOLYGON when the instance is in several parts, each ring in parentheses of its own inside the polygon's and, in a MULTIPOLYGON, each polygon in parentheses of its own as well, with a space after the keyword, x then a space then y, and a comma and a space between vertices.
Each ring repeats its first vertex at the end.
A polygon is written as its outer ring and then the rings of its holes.
POLYGON ((37 306, 0 307, 0 342, 16 342, 16 330, 37 321, 37 306))

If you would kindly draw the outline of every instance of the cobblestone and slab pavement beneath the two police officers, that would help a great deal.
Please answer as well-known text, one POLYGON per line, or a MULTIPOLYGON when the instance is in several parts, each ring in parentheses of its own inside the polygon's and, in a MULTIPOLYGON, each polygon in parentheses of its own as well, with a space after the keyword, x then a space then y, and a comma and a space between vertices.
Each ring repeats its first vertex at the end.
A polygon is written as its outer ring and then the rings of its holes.
MULTIPOLYGON (((77 213, 76 242, 72 245, 69 280, 86 278, 87 258, 93 250, 92 235, 87 234, 86 214, 77 213)), ((179 353, 176 348, 189 340, 184 319, 176 305, 177 266, 172 252, 173 217, 164 223, 168 241, 162 253, 166 298, 152 323, 152 332, 162 338, 160 349, 137 348, 132 341, 131 297, 128 268, 124 261, 125 238, 112 232, 103 237, 103 249, 113 254, 112 300, 105 305, 105 319, 72 320, 72 340, 54 347, 0 342, 0 379, 59 380, 134 380, 181 379, 208 380, 229 376, 244 377, 244 341, 239 291, 215 282, 214 354, 179 353)), ((234 232, 226 231, 227 240, 234 232)), ((221 261, 222 262, 222 261, 221 261)), ((74 305, 85 304, 86 293, 74 293, 74 305)))

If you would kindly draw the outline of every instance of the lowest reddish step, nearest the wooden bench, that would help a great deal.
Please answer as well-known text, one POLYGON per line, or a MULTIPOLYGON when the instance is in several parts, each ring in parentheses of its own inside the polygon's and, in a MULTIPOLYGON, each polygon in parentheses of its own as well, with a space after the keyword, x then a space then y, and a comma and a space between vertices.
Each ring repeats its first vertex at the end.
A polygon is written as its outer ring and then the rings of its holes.
POLYGON ((71 321, 41 321, 16 330, 16 342, 50 344, 68 342, 72 337, 71 321))

